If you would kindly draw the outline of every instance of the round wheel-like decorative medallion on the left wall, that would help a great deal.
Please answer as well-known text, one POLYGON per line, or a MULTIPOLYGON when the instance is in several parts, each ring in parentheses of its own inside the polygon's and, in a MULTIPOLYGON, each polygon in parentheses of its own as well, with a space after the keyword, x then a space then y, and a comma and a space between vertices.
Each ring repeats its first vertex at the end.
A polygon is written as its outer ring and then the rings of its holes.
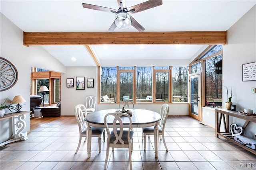
POLYGON ((8 60, 0 57, 0 91, 14 86, 18 80, 18 72, 15 66, 8 60))

